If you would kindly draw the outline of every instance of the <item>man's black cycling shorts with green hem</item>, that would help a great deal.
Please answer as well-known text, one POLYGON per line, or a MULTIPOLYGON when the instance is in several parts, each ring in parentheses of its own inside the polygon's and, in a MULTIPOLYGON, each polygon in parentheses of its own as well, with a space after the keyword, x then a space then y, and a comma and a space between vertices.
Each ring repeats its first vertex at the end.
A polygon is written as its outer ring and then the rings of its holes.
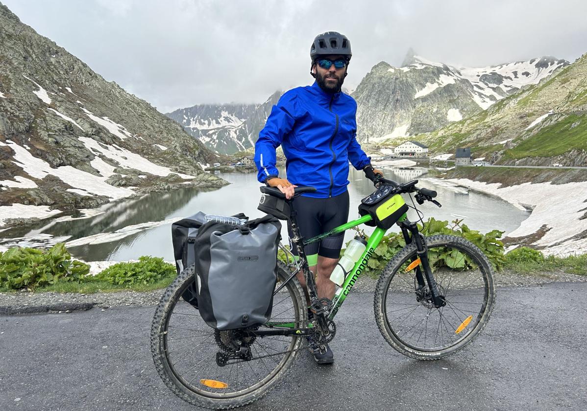
MULTIPOLYGON (((329 232, 335 227, 348 222, 349 218, 349 192, 330 198, 312 198, 299 196, 294 199, 294 210, 298 213, 298 227, 300 234, 306 240, 311 237, 329 232)), ((288 224, 289 237, 293 236, 291 226, 288 224)), ((338 259, 340 249, 345 239, 345 232, 336 233, 323 238, 320 242, 308 244, 304 251, 308 257, 308 264, 315 265, 318 256, 338 259)), ((298 255, 298 250, 293 247, 292 252, 298 255)))

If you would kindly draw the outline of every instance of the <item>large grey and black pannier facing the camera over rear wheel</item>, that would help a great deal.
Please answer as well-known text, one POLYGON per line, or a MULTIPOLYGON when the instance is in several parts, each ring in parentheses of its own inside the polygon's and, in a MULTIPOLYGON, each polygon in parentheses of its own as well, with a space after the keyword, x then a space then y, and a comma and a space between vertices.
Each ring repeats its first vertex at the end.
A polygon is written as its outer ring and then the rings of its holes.
POLYGON ((272 216, 242 225, 210 221, 194 241, 198 308, 217 330, 252 327, 271 317, 281 223, 272 216))

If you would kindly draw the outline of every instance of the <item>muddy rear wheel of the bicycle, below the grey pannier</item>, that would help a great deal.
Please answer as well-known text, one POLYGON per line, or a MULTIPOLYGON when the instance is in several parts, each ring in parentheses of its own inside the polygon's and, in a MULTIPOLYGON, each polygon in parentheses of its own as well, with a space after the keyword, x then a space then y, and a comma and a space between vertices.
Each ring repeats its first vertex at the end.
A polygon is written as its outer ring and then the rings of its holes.
MULTIPOLYGON (((278 286, 289 277, 278 265, 278 286)), ((251 337, 214 330, 182 297, 193 284, 194 266, 167 288, 151 326, 151 352, 157 372, 181 399, 201 407, 227 409, 246 405, 273 388, 293 364, 302 337, 251 337), (234 357, 239 347, 248 355, 234 357)), ((307 322, 302 288, 294 277, 273 298, 272 322, 307 322)), ((263 330, 264 327, 258 327, 263 330)), ((266 329, 266 328, 265 328, 266 329)))

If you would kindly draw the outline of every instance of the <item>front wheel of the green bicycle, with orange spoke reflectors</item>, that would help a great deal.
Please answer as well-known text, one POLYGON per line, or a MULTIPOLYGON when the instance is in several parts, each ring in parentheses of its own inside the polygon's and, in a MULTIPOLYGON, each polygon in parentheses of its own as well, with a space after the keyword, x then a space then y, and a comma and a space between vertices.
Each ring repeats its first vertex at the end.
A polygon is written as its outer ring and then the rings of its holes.
POLYGON ((473 243, 437 235, 427 237, 426 245, 446 305, 434 306, 426 280, 420 287, 410 266, 417 258, 416 244, 411 243, 387 263, 377 282, 375 318, 397 351, 416 359, 438 359, 465 347, 483 330, 495 290, 491 264, 473 243))

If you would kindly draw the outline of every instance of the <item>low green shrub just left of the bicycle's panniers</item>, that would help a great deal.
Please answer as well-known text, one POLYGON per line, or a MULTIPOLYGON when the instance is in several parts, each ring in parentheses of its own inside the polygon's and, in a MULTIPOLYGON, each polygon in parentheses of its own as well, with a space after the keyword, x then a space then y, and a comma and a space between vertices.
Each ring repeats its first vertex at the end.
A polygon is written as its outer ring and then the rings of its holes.
POLYGON ((176 274, 176 267, 166 263, 162 258, 142 256, 136 262, 116 263, 97 274, 95 278, 116 286, 129 287, 136 284, 153 284, 176 274))

